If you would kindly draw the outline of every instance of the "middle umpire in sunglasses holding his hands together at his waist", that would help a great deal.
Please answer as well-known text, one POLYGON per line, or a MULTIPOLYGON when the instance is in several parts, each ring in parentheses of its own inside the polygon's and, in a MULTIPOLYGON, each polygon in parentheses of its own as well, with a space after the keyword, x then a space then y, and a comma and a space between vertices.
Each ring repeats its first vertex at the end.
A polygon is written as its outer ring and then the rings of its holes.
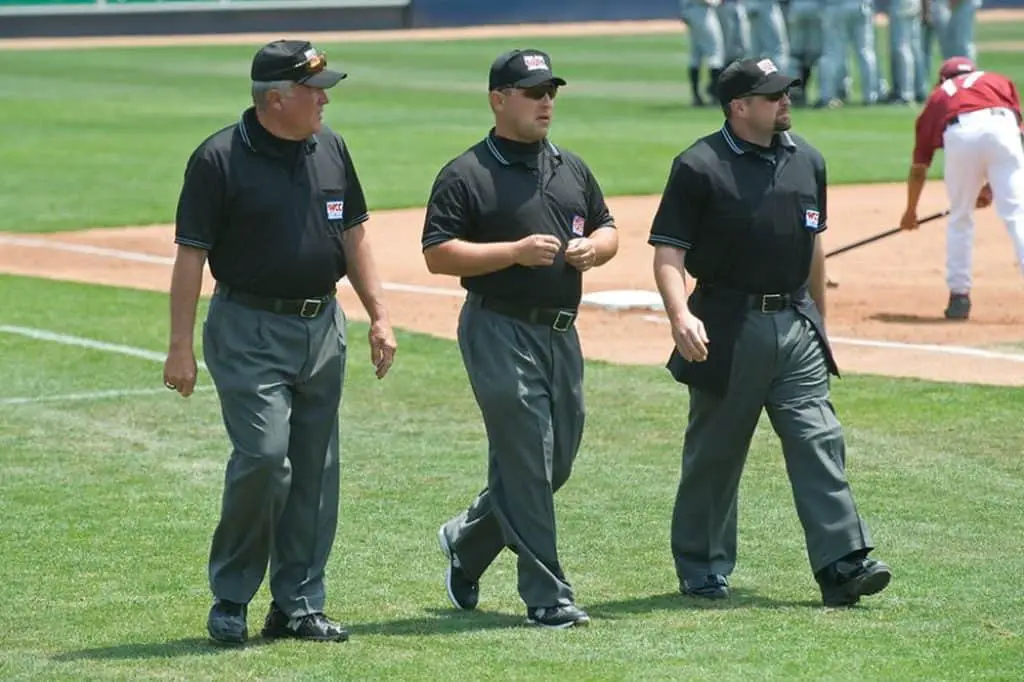
POLYGON ((558 560, 553 495, 583 436, 582 273, 618 249, 590 169, 548 140, 564 84, 540 50, 498 57, 495 127, 438 173, 422 242, 430 271, 468 290, 459 348, 489 443, 486 488, 438 530, 449 598, 475 608, 480 576, 508 546, 527 622, 549 628, 589 622, 558 560))

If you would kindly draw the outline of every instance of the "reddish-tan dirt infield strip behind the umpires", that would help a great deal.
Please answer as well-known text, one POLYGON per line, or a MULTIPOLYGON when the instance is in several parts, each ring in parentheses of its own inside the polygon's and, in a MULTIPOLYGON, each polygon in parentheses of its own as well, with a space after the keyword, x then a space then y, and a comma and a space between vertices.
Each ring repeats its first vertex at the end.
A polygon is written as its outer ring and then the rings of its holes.
MULTIPOLYGON (((904 191, 902 184, 830 189, 825 249, 896 225, 904 191)), ((615 198, 609 204, 622 231, 620 254, 588 273, 585 290, 652 291, 646 236, 657 198, 615 198)), ((930 182, 921 215, 944 208, 942 184, 930 182)), ((1014 264, 1010 238, 994 212, 981 211, 978 217, 975 305, 966 324, 942 317, 944 221, 828 260, 829 276, 840 284, 828 291, 828 331, 842 369, 1024 386, 1024 278, 1014 264)), ((389 283, 388 305, 395 326, 454 338, 460 290, 455 280, 430 274, 424 266, 419 247, 422 220, 423 210, 411 209, 376 212, 369 223, 381 278, 389 283)), ((174 254, 167 225, 39 237, 0 235, 0 245, 3 272, 158 291, 167 290, 174 254), (68 251, 67 245, 91 249, 68 251)), ((205 291, 211 288, 208 279, 205 291)), ((350 289, 342 290, 341 300, 350 317, 366 318, 350 289)), ((614 363, 664 363, 672 343, 664 314, 650 310, 588 307, 580 330, 588 357, 614 363)))

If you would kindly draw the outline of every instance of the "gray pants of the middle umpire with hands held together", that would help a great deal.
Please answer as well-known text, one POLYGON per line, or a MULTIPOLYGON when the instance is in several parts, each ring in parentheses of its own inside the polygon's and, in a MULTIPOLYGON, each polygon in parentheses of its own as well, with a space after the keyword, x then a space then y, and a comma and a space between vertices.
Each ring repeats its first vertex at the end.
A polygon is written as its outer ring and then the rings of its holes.
POLYGON ((554 494, 583 437, 583 355, 575 328, 556 332, 467 297, 459 347, 487 432, 487 486, 445 526, 463 569, 479 578, 509 547, 527 607, 573 601, 558 562, 554 494))

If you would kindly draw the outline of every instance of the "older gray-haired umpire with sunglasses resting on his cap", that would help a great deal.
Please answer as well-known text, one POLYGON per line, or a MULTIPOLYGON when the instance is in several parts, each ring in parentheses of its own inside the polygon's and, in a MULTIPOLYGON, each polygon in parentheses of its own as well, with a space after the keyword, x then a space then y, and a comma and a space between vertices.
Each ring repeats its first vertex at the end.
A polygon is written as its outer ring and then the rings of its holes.
POLYGON ((377 377, 395 341, 366 239, 367 204, 344 140, 322 124, 345 74, 307 42, 272 42, 252 62, 254 106, 193 153, 177 209, 164 382, 196 383, 193 329, 203 266, 217 281, 203 352, 233 451, 210 549, 207 629, 242 643, 270 562, 264 637, 347 639, 324 614, 338 520, 338 408, 348 274, 371 318, 377 377))

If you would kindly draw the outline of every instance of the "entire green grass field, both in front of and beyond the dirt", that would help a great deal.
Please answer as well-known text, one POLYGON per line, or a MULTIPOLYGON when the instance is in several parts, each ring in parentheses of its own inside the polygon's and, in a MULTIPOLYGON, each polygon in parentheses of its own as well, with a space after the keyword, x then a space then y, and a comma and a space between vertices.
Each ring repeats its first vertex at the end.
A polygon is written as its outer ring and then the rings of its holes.
MULTIPOLYGON (((983 66, 1018 82, 1021 54, 984 52, 984 41, 1022 26, 979 25, 983 66)), ((672 156, 720 122, 687 106, 681 38, 536 44, 572 83, 556 138, 609 195, 659 191, 672 156)), ((480 84, 506 45, 328 46, 351 73, 330 120, 355 148, 372 209, 422 203, 437 167, 482 135, 480 84)), ((250 57, 232 47, 0 52, 0 230, 171 220, 187 154, 246 105, 250 57)), ((913 115, 851 108, 797 121, 837 181, 897 180, 913 115)), ((594 623, 538 632, 521 626, 510 556, 485 577, 479 612, 453 612, 444 595, 434 532, 485 472, 458 349, 399 332, 397 364, 377 382, 366 327, 352 324, 328 569, 328 611, 352 640, 224 650, 205 638, 206 557, 228 445, 209 377, 188 400, 161 388, 166 295, 0 275, 0 680, 1021 679, 1019 389, 834 385, 857 503, 895 571, 849 610, 818 606, 765 420, 742 483, 734 596, 706 605, 678 594, 669 551, 685 392, 660 368, 589 363, 588 427, 558 518, 563 563, 594 623)), ((267 600, 264 588, 251 632, 267 600)))

